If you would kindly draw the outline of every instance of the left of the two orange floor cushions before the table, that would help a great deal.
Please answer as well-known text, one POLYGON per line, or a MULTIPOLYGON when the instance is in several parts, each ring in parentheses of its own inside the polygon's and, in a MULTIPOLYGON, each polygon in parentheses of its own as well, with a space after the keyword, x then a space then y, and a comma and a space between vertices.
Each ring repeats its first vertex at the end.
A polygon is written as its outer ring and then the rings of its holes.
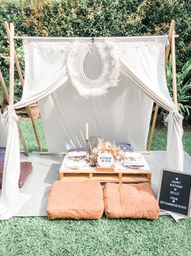
POLYGON ((46 205, 49 218, 101 218, 102 186, 97 180, 55 181, 46 205))

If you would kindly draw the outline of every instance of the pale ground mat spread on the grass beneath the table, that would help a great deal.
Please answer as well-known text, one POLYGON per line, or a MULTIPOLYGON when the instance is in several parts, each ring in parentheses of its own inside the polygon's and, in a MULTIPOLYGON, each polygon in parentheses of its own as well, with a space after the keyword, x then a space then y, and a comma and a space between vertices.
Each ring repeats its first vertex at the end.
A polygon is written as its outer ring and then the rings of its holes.
MULTIPOLYGON (((160 173, 164 165, 164 151, 152 151, 150 155, 145 155, 151 172, 151 186, 155 195, 158 192, 158 182, 160 173)), ((46 201, 50 192, 51 184, 59 179, 59 168, 63 157, 40 156, 33 152, 29 157, 22 157, 25 161, 32 161, 33 172, 28 177, 20 192, 31 195, 15 216, 46 216, 46 201)), ((191 157, 184 152, 184 171, 191 173, 191 157)))

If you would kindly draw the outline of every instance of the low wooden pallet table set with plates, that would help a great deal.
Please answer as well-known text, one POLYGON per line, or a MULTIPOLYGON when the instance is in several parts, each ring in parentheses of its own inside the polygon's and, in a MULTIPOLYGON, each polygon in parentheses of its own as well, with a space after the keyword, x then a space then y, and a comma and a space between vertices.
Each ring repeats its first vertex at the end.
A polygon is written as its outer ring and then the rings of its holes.
POLYGON ((151 171, 145 161, 145 166, 139 169, 124 168, 120 163, 115 165, 114 171, 97 170, 87 164, 87 166, 76 170, 68 168, 66 165, 66 157, 59 170, 61 181, 67 180, 98 180, 100 183, 141 183, 150 182, 151 171))

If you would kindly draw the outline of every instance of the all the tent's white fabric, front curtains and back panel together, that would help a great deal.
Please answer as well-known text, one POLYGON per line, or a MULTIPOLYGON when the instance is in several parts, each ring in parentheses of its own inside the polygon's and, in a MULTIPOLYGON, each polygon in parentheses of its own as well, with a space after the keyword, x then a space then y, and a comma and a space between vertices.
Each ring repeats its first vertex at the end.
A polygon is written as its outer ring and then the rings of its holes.
MULTIPOLYGON (((81 39, 77 44, 81 42, 89 43, 88 39, 81 39)), ((99 40, 100 47, 102 42, 105 43, 104 38, 99 40)), ((164 55, 167 37, 111 38, 110 42, 117 52, 119 81, 105 96, 85 99, 80 97, 67 72, 67 57, 76 45, 75 39, 24 40, 23 96, 19 103, 10 106, 9 111, 3 115, 8 116, 5 119, 9 143, 4 169, 6 174, 3 175, 0 218, 8 218, 13 214, 14 204, 19 195, 17 186, 20 148, 13 108, 21 108, 35 101, 40 102, 48 148, 52 152, 83 145, 87 121, 92 129, 91 135, 100 135, 119 143, 132 143, 136 150, 145 149, 151 108, 155 101, 170 112, 167 160, 164 167, 183 170, 182 117, 171 100, 165 79, 164 55), (15 156, 12 156, 13 152, 15 156), (14 176, 11 171, 14 172, 14 176), (5 201, 8 205, 5 205, 5 201)), ((89 44, 90 48, 92 46, 89 44)), ((95 52, 93 55, 98 55, 98 52, 95 52)), ((89 58, 90 56, 91 54, 89 58)), ((86 73, 82 78, 89 77, 92 81, 100 77, 104 69, 98 56, 93 63, 89 62, 88 57, 85 58, 84 66, 81 68, 85 69, 85 66, 86 73)), ((111 76, 108 74, 108 77, 111 76)))

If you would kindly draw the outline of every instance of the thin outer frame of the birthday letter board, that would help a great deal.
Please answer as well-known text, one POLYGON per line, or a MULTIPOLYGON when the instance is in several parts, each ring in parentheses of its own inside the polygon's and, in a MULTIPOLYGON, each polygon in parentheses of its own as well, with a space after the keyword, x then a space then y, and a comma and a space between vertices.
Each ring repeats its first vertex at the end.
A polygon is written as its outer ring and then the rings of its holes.
MULTIPOLYGON (((183 175, 190 176, 190 177, 191 177, 191 174, 188 173, 188 172, 182 172, 182 171, 177 171, 177 170, 169 170, 169 169, 161 170, 161 178, 160 178, 160 181, 159 181, 159 187, 158 187, 159 189, 158 189, 158 196, 157 196, 158 205, 159 205, 160 210, 162 212, 166 212, 166 213, 171 212, 173 214, 177 214, 177 215, 189 218, 190 217, 190 212, 191 212, 191 188, 189 189, 189 195, 188 195, 189 196, 189 204, 188 204, 188 213, 187 214, 180 214, 180 213, 178 213, 176 211, 173 211, 173 210, 163 209, 163 206, 160 204, 161 192, 162 192, 162 189, 163 189, 163 175, 164 175, 164 171, 169 172, 169 173, 173 173, 173 174, 180 174, 180 175, 183 174, 183 175)), ((170 183, 169 183, 169 186, 170 186, 170 183)))

